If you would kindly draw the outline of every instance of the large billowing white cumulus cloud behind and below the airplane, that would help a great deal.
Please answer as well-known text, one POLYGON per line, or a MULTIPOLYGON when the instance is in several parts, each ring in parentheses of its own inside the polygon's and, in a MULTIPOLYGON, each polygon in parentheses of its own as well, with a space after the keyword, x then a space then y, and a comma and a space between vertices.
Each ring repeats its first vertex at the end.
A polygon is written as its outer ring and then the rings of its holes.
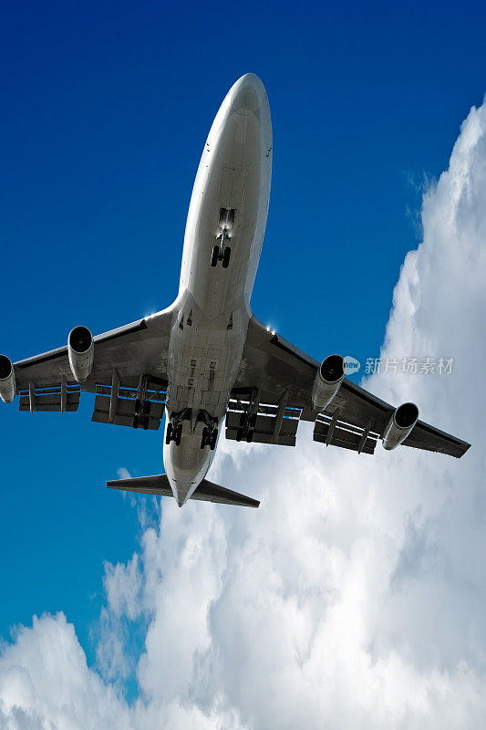
POLYGON ((453 357, 453 373, 366 385, 417 401, 470 452, 343 454, 306 424, 294 450, 222 442, 211 478, 260 509, 164 502, 139 553, 107 565, 100 672, 62 614, 35 619, 0 657, 0 726, 486 724, 486 105, 425 194, 422 225, 382 356, 453 357), (140 696, 127 704, 119 627, 141 617, 140 696))

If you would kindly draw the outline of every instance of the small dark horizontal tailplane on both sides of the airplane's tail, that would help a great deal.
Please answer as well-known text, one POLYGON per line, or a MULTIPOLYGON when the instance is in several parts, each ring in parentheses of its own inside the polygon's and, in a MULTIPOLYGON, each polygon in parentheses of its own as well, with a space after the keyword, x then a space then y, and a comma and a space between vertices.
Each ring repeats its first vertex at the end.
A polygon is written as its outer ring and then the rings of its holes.
MULTIPOLYGON (((107 482, 109 489, 121 489, 124 492, 138 492, 140 495, 173 496, 167 474, 155 476, 136 476, 133 479, 114 479, 107 482)), ((207 479, 194 490, 190 499, 199 499, 202 502, 217 502, 221 505, 237 505, 243 507, 257 507, 260 502, 250 496, 240 495, 231 489, 215 485, 207 479)))

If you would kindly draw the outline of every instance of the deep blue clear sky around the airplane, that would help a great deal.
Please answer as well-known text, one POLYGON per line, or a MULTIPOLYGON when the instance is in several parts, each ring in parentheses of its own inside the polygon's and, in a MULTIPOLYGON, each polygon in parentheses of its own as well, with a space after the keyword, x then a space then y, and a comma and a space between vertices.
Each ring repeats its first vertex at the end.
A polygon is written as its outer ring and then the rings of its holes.
MULTIPOLYGON (((483 99, 485 20, 479 3, 5 6, 0 349, 19 360, 171 303, 205 135, 253 71, 274 125, 253 311, 316 358, 377 355, 423 184, 483 99)), ((0 636, 62 609, 88 662, 103 561, 140 531, 105 479, 161 469, 161 433, 91 410, 0 409, 0 636)))

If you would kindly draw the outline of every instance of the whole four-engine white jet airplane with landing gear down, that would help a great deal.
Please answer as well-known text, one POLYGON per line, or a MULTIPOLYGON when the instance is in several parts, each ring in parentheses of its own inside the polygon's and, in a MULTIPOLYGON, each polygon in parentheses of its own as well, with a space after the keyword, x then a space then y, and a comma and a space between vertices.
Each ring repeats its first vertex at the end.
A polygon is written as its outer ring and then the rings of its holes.
POLYGON ((470 443, 394 407, 253 316, 250 300, 268 213, 272 123, 264 84, 245 74, 212 123, 192 190, 179 294, 171 307, 16 363, 0 356, 0 396, 21 411, 74 412, 95 394, 92 421, 156 430, 166 414, 165 474, 108 481, 109 488, 259 506, 205 478, 224 423, 236 442, 295 446, 299 422, 314 440, 357 454, 399 444, 460 457, 470 443))

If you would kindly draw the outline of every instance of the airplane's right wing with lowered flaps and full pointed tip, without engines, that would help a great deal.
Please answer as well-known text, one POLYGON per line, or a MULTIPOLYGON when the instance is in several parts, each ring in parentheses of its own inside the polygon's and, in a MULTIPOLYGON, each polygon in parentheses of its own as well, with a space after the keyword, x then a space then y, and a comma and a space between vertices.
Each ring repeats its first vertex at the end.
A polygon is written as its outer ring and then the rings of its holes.
MULTIPOLYGON (((314 440, 373 454, 394 406, 346 378, 323 412, 312 405, 319 363, 252 317, 226 416, 226 437, 295 445, 300 421, 315 423, 314 440)), ((449 433, 418 421, 406 446, 460 457, 469 449, 449 433)))

